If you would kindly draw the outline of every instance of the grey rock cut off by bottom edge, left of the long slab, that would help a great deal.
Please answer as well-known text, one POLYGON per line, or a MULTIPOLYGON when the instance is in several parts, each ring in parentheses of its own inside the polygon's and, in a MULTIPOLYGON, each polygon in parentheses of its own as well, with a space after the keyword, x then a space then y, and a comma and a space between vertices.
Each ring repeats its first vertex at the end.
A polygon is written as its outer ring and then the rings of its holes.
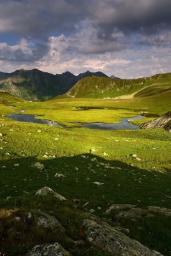
POLYGON ((36 245, 25 256, 71 256, 69 252, 58 244, 41 244, 36 245))

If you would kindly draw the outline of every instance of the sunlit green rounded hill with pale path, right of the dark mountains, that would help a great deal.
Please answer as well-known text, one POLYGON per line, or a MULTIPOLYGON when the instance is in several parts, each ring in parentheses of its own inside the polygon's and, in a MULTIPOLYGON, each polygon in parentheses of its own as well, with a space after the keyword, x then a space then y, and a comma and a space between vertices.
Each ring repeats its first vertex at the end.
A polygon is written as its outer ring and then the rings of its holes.
POLYGON ((112 79, 93 76, 78 81, 62 97, 130 99, 132 97, 148 97, 169 90, 171 90, 171 73, 139 79, 112 79))

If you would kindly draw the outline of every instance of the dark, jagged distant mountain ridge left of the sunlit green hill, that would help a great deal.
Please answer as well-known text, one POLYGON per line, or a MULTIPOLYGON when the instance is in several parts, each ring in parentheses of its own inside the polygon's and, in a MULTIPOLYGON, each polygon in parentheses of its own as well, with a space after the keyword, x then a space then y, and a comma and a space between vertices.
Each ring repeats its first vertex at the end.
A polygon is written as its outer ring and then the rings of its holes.
POLYGON ((88 70, 75 76, 69 71, 54 75, 36 68, 32 70, 22 68, 11 73, 0 72, 0 91, 26 100, 43 101, 63 95, 80 79, 92 76, 108 77, 102 72, 88 70))

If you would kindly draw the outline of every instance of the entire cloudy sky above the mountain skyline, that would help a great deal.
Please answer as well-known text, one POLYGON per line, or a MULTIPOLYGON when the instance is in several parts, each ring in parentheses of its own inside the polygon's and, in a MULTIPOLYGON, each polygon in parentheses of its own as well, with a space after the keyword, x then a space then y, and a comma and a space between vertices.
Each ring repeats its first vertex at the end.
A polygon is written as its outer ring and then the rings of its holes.
POLYGON ((0 0, 0 71, 171 72, 170 0, 0 0))

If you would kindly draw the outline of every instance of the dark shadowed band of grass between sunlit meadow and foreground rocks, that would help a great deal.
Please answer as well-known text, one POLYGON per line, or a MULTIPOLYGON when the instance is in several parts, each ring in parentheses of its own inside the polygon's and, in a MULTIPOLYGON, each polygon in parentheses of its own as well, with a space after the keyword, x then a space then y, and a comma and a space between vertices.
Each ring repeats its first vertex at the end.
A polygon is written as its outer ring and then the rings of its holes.
POLYGON ((170 207, 171 175, 142 170, 121 161, 107 161, 93 154, 38 160, 23 157, 0 162, 0 198, 35 193, 48 186, 68 199, 77 198, 96 207, 138 204, 170 207), (96 158, 94 158, 96 157, 96 158), (40 170, 34 163, 45 166, 40 170), (17 166, 16 166, 17 165, 17 166), (54 177, 61 173, 64 177, 54 177), (100 182, 103 184, 94 184, 100 182))

